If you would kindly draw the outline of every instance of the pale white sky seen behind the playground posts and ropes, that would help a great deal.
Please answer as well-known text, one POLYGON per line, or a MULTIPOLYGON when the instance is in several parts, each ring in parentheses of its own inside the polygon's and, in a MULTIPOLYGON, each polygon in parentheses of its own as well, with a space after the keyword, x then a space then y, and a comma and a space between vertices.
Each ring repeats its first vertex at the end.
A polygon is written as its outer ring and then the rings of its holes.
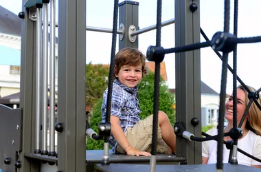
MULTIPOLYGON (((156 24, 157 0, 137 0, 139 2, 139 28, 146 28, 156 24)), ((120 1, 121 2, 121 1, 120 1)), ((198 1, 195 1, 196 3, 198 1)), ((223 31, 224 2, 214 0, 201 0, 201 28, 205 34, 212 38, 223 31)), ((0 6, 7 8, 14 14, 22 9, 21 0, 0 1, 0 6)), ((239 1, 238 6, 238 37, 261 35, 261 1, 239 1)), ((56 6, 57 7, 57 6, 56 6)), ((233 32, 234 1, 231 1, 230 32, 233 32)), ((110 28, 113 27, 113 1, 112 0, 87 0, 87 26, 110 28)), ((162 3, 161 21, 174 19, 174 0, 164 0, 162 3)), ((112 34, 87 31, 87 63, 109 64, 111 58, 112 34)), ((155 45, 156 32, 150 31, 139 35, 139 50, 146 53, 149 45, 155 45)), ((117 40, 118 41, 118 40, 117 40)), ((201 42, 205 41, 201 36, 201 42)), ((175 47, 174 24, 161 29, 161 46, 164 48, 175 47)), ((117 50, 117 49, 116 49, 117 50)), ((256 89, 261 87, 260 79, 260 43, 238 45, 238 76, 247 85, 256 89)), ((175 87, 175 54, 167 54, 166 63, 168 86, 175 87)), ((233 67, 233 54, 229 54, 229 65, 233 67)), ((216 92, 220 92, 221 61, 210 47, 201 50, 201 80, 216 92)), ((232 92, 232 74, 228 71, 227 94, 232 92)), ((239 84, 239 83, 238 83, 239 84)))

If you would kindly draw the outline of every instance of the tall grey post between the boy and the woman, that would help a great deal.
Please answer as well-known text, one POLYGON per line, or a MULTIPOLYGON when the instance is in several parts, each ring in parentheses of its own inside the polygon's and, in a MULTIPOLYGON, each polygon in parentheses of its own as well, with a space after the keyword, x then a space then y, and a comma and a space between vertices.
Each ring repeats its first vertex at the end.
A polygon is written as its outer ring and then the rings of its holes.
MULTIPOLYGON (((200 41, 199 0, 175 0, 175 47, 200 41), (198 9, 190 10, 196 3, 198 9)), ((200 50, 176 54, 176 120, 183 122, 187 131, 201 136, 201 58, 200 50), (200 123, 194 127, 192 118, 200 123)), ((188 164, 201 164, 201 142, 177 138, 177 156, 188 164)))

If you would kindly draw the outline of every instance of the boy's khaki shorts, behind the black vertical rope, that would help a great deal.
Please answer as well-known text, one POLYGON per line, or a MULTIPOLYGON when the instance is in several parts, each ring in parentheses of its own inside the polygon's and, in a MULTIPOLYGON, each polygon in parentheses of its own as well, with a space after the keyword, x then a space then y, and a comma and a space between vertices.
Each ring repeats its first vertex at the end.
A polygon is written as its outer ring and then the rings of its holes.
MULTIPOLYGON (((139 151, 151 152, 152 124, 153 115, 150 115, 144 120, 139 120, 134 127, 128 127, 124 134, 133 148, 138 149, 139 151)), ((167 153, 169 147, 162 139, 159 125, 157 136, 157 153, 167 153)), ((120 144, 117 145, 116 151, 117 153, 126 153, 120 144)))

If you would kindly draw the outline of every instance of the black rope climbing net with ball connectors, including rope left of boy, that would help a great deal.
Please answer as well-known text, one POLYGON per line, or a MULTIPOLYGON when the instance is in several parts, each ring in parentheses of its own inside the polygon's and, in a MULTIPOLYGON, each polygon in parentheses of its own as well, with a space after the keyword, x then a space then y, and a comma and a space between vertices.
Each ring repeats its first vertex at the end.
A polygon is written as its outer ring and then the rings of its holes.
MULTIPOLYGON (((220 83, 220 114, 218 116, 218 135, 216 136, 209 136, 206 133, 202 133, 205 138, 199 138, 194 136, 192 133, 185 131, 185 127, 181 122, 176 122, 174 125, 174 131, 177 136, 187 138, 188 140, 203 142, 207 140, 216 140, 218 142, 217 148, 217 164, 216 168, 218 170, 223 170, 223 144, 227 145, 227 149, 230 149, 229 160, 231 164, 237 164, 237 159, 234 157, 236 155, 236 151, 240 151, 249 158, 261 162, 260 159, 253 157, 249 153, 238 149, 238 139, 242 137, 242 122, 245 120, 247 116, 247 112, 249 111, 249 107, 252 103, 256 103, 258 108, 261 110, 261 106, 258 104, 259 92, 253 92, 242 82, 242 80, 237 76, 237 69, 236 69, 236 62, 237 62, 237 45, 238 43, 257 43, 261 42, 261 36, 254 36, 254 37, 246 37, 246 38, 238 38, 238 0, 234 1, 234 33, 229 33, 229 10, 230 10, 230 1, 225 0, 225 12, 224 12, 224 30, 223 32, 216 32, 211 40, 209 40, 206 34, 201 29, 201 34, 205 38, 205 42, 201 43, 194 43, 190 45, 183 45, 180 47, 172 47, 168 49, 164 49, 161 47, 161 6, 162 1, 157 1, 157 32, 156 32, 156 45, 149 46, 147 50, 147 58, 148 61, 155 62, 155 87, 154 87, 154 110, 153 110, 153 129, 152 129, 152 155, 157 154, 157 127, 158 127, 158 112, 159 112, 159 78, 160 78, 160 63, 163 61, 165 54, 170 53, 179 53, 179 52, 186 52, 192 50, 198 50, 204 47, 212 47, 214 52, 218 55, 218 57, 222 60, 222 70, 221 70, 221 83, 220 83), (222 52, 222 55, 219 53, 222 52), (230 52, 233 52, 233 69, 227 64, 228 55, 230 52), (225 116, 225 98, 226 98, 226 85, 227 85, 227 69, 233 74, 233 128, 228 132, 224 133, 224 116, 225 116), (237 108, 236 108, 236 82, 242 85, 245 90, 248 92, 249 104, 245 110, 245 113, 240 120, 239 125, 237 126, 237 108), (232 142, 224 142, 223 137, 230 136, 233 141, 232 142), (233 151, 233 152, 232 152, 233 151), (233 158, 231 156, 233 155, 233 158)), ((106 110, 106 122, 100 125, 100 129, 103 128, 106 131, 110 131, 110 113, 111 113, 111 96, 112 96, 112 89, 113 89, 113 77, 114 77, 114 65, 115 65, 115 47, 116 47, 116 36, 117 36, 117 4, 118 1, 115 0, 114 2, 114 12, 113 12, 113 39, 112 39, 112 47, 111 47, 111 65, 110 65, 110 72, 109 72, 109 87, 108 87, 108 101, 107 101, 107 110, 106 110)), ((190 9, 191 10, 191 9, 190 9)), ((194 12, 192 10, 192 12, 194 12)), ((104 142, 109 142, 110 132, 104 132, 100 135, 105 136, 104 142)), ((103 164, 108 164, 108 159, 103 159, 103 164)))

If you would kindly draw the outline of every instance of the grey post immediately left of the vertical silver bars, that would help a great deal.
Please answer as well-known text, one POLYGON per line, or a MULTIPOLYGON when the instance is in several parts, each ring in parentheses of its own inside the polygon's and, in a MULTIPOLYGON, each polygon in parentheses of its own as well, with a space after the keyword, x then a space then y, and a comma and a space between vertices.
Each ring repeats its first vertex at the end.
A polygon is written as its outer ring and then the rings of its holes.
MULTIPOLYGON (((23 3, 25 0, 23 0, 23 3)), ((29 10, 23 8, 25 17, 21 34, 21 82, 20 107, 23 109, 22 151, 19 153, 21 171, 39 171, 39 166, 24 157, 34 151, 35 144, 35 74, 36 74, 36 22, 29 19, 29 10)))

